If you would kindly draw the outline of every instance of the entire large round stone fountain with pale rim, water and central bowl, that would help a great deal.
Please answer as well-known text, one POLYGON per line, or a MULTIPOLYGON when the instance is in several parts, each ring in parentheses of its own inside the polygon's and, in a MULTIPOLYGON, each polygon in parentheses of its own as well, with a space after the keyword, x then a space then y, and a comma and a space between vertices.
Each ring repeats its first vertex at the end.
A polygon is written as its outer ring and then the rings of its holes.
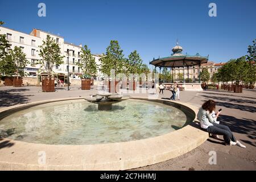
POLYGON ((0 170, 125 170, 175 158, 209 137, 187 125, 198 112, 195 106, 142 97, 115 102, 127 98, 117 97, 0 108, 0 170), (112 110, 98 110, 101 100, 114 104, 112 110), (43 165, 38 162, 42 151, 43 165))

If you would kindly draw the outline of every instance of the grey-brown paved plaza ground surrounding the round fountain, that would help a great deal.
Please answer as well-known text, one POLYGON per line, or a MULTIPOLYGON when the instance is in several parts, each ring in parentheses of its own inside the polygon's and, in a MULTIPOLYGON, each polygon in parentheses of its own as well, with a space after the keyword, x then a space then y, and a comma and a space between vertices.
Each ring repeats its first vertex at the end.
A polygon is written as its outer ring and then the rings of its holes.
MULTIPOLYGON (((1 86, 0 108, 56 98, 85 97, 96 92, 96 88, 81 90, 79 87, 73 87, 69 91, 67 88, 59 88, 56 92, 44 93, 38 86, 21 88, 1 86)), ((147 94, 139 93, 129 95, 147 97, 147 94)), ((158 97, 170 98, 170 96, 170 91, 164 90, 164 94, 158 97)), ((187 154, 152 166, 137 168, 137 170, 256 170, 256 90, 244 89, 243 93, 225 90, 180 92, 181 102, 198 107, 209 99, 217 101, 216 109, 222 109, 219 120, 223 125, 230 127, 236 138, 246 145, 245 149, 238 146, 224 146, 222 137, 218 140, 209 138, 201 146, 187 154), (216 151, 216 165, 210 165, 208 162, 210 151, 216 151)), ((7 143, 0 141, 0 150, 3 147, 8 147, 6 145, 7 143)))

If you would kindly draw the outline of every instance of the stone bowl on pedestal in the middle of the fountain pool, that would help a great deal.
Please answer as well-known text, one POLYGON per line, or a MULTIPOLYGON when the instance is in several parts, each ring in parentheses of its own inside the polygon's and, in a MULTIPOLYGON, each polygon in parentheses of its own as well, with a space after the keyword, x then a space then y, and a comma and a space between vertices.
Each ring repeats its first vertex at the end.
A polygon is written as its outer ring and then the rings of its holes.
POLYGON ((92 94, 90 97, 85 97, 85 100, 97 104, 98 110, 112 110, 112 104, 129 98, 129 96, 123 97, 123 95, 115 93, 98 93, 92 94))

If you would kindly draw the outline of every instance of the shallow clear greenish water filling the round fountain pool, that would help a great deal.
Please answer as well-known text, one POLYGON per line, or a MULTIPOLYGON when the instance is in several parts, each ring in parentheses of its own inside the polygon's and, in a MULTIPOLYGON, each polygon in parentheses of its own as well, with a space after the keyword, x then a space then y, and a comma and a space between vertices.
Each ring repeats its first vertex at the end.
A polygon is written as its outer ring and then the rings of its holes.
POLYGON ((0 121, 0 130, 24 142, 97 144, 156 137, 186 121, 183 111, 158 102, 131 99, 99 111, 97 104, 72 100, 17 111, 0 121))

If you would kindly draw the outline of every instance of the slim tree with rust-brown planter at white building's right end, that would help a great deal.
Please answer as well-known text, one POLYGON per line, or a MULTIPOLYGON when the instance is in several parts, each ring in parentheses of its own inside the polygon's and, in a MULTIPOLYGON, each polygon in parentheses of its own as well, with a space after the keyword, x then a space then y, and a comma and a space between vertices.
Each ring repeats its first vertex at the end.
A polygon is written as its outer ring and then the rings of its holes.
POLYGON ((97 73, 95 57, 92 56, 90 49, 85 45, 81 49, 80 61, 76 63, 82 70, 81 89, 90 90, 91 78, 97 73))

